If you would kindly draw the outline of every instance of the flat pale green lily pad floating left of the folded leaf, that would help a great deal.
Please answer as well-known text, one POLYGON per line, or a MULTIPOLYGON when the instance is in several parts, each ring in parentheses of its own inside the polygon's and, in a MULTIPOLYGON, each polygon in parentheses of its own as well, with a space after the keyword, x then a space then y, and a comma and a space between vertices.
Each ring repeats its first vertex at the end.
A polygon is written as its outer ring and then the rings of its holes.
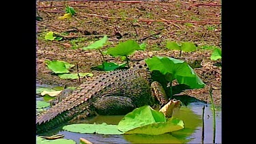
POLYGON ((123 134, 117 130, 117 125, 102 124, 70 124, 63 126, 63 130, 70 132, 89 133, 89 134, 123 134))

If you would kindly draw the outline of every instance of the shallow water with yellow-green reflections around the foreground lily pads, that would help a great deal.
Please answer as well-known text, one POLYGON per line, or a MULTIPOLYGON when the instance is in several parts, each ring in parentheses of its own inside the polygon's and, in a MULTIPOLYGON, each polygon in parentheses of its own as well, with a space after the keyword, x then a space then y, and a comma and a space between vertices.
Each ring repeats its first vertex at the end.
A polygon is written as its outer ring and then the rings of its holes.
MULTIPOLYGON (((64 139, 73 139, 79 143, 80 138, 87 139, 91 143, 201 143, 201 125, 203 104, 201 102, 193 102, 188 106, 182 106, 180 111, 175 111, 173 117, 178 117, 184 121, 184 129, 177 130, 168 134, 150 136, 145 134, 124 134, 124 135, 104 135, 104 134, 80 134, 75 132, 59 131, 56 128, 44 135, 64 134, 64 139)), ((205 107, 205 137, 204 143, 212 143, 213 121, 210 105, 205 107)), ((87 124, 118 124, 124 115, 115 116, 98 116, 91 117, 76 123, 87 124)), ((221 111, 216 111, 216 143, 221 143, 221 111)))

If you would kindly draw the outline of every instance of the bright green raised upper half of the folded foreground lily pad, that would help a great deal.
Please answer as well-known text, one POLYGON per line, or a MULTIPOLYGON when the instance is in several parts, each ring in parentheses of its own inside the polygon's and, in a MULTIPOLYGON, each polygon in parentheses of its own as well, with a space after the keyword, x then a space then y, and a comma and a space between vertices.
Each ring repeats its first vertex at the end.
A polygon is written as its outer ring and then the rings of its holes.
POLYGON ((139 126, 165 121, 165 115, 162 112, 155 111, 150 106, 141 106, 125 115, 124 118, 119 121, 118 130, 127 132, 139 126))

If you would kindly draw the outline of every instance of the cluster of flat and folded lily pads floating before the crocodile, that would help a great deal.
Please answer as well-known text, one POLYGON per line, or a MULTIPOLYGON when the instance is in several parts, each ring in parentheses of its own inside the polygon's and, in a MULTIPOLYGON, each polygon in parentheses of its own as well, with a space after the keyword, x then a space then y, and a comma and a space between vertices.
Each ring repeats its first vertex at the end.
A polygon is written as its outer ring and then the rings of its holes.
POLYGON ((159 135, 184 128, 182 120, 167 119, 162 112, 150 106, 141 106, 128 113, 118 125, 103 124, 71 124, 63 126, 63 130, 80 133, 97 134, 149 134, 159 135), (147 119, 145 119, 147 117, 147 119))

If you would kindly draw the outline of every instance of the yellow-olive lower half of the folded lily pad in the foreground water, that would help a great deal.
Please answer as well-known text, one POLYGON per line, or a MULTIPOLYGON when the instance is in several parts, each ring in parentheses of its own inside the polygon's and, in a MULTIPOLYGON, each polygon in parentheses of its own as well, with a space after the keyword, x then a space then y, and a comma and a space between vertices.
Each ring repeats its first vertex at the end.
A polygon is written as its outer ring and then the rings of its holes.
POLYGON ((148 124, 145 126, 140 126, 132 130, 128 130, 124 134, 147 134, 147 135, 159 135, 165 134, 167 132, 173 132, 176 130, 181 130, 184 128, 184 123, 182 120, 173 118, 169 119, 167 122, 157 122, 153 124, 148 124))

